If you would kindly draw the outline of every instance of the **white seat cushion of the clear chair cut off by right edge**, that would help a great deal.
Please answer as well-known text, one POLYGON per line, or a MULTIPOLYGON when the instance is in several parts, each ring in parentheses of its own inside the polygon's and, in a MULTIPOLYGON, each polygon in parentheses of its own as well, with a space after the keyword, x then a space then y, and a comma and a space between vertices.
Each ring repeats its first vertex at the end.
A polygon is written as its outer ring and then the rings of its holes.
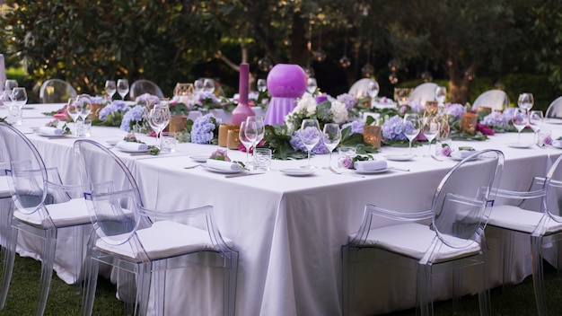
MULTIPOLYGON (((548 216, 545 213, 529 211, 517 206, 494 206, 487 224, 518 231, 532 233, 537 228, 540 219, 548 216)), ((547 221, 546 233, 555 233, 562 230, 562 223, 553 220, 547 221)))

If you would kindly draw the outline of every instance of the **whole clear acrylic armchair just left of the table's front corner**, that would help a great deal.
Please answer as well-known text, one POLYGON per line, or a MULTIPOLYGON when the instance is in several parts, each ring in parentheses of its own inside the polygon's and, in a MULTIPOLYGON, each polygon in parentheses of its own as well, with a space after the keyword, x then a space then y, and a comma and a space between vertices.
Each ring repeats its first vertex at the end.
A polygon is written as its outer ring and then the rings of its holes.
POLYGON ((83 314, 92 314, 101 262, 126 272, 119 275, 128 276, 123 284, 129 285, 127 296, 133 297, 126 302, 126 311, 140 315, 149 310, 151 289, 154 314, 164 314, 167 270, 219 268, 224 276, 223 314, 233 315, 238 252, 233 250, 233 242, 219 232, 212 206, 176 212, 149 210, 143 206, 136 180, 127 166, 110 150, 91 140, 78 140, 75 153, 83 165, 83 180, 90 185, 84 195, 95 228, 88 246, 83 314))

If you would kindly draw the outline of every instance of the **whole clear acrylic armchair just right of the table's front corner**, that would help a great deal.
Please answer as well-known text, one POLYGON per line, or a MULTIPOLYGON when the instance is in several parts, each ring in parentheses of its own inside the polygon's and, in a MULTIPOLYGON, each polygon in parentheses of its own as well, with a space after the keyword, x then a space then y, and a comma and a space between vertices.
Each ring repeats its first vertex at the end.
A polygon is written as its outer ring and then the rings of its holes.
POLYGON ((356 276, 356 264, 374 258, 417 271, 417 308, 422 315, 433 315, 432 277, 436 273, 452 270, 456 305, 461 293, 459 268, 479 265, 479 309, 487 315, 490 306, 483 233, 503 167, 500 151, 470 155, 447 172, 435 191, 432 208, 423 212, 365 206, 359 230, 342 247, 343 314, 353 314, 354 282, 361 277, 356 276))

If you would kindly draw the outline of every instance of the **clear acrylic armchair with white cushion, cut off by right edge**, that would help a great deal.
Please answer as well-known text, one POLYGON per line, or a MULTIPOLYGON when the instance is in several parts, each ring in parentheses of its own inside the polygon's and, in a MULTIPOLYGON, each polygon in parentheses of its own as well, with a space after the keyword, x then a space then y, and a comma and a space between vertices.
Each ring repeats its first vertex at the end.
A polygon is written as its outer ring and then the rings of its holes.
MULTIPOLYGON (((554 250, 551 243, 562 240, 562 156, 550 167, 546 178, 534 178, 531 189, 525 192, 499 189, 498 198, 512 198, 521 202, 518 206, 497 205, 488 220, 488 225, 504 231, 504 282, 511 276, 512 256, 516 238, 514 233, 530 237, 532 283, 539 315, 547 315, 543 276, 543 251, 554 250), (532 200, 539 200, 532 207, 532 200)), ((562 266, 562 249, 558 242, 558 262, 562 266)))

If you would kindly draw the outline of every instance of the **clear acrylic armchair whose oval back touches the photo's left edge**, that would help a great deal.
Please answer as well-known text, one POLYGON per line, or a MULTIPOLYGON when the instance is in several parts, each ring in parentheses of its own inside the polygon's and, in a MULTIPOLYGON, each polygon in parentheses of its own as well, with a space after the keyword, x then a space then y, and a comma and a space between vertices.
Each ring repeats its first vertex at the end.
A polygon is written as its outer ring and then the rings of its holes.
MULTIPOLYGON (((4 172, 8 175, 15 206, 13 214, 7 217, 3 215, 3 219, 11 221, 11 229, 5 234, 0 309, 4 308, 12 278, 18 233, 29 233, 39 237, 43 243, 40 252, 40 294, 35 310, 37 315, 42 315, 56 262, 57 242, 67 238, 66 242, 72 247, 67 250, 70 253, 66 253, 66 256, 73 260, 74 272, 71 277, 74 279, 71 283, 78 285, 83 264, 83 236, 90 234, 92 222, 83 198, 83 188, 64 185, 57 169, 45 167, 40 154, 27 137, 16 128, 0 123, 0 139, 0 151, 9 161, 4 166, 4 172)), ((67 265, 67 262, 63 264, 67 265)))

